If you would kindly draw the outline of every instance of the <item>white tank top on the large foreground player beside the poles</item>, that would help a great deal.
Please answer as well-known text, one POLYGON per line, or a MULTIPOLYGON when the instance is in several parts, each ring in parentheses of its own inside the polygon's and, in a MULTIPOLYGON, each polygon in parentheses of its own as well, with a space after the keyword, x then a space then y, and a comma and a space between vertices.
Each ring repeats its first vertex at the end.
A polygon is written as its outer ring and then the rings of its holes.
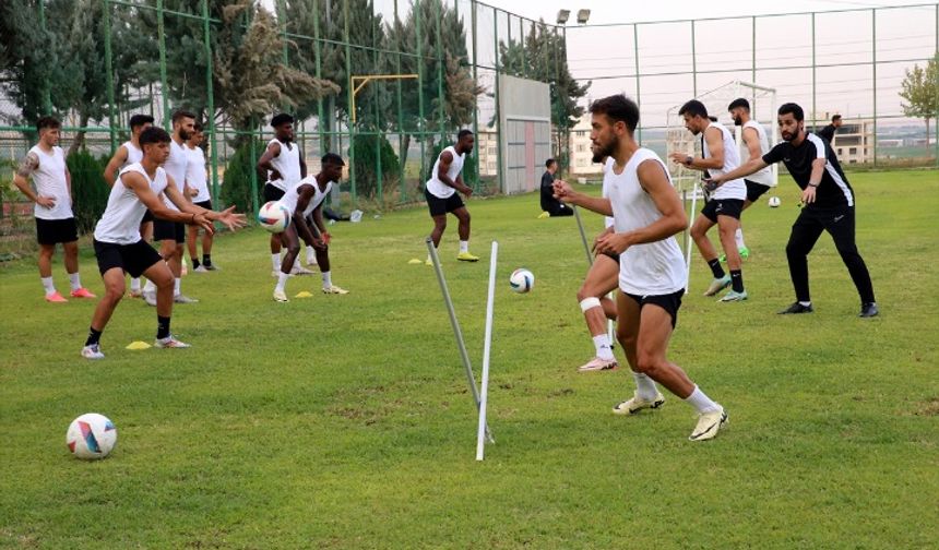
MULTIPOLYGON (((665 163, 647 148, 633 153, 622 174, 617 175, 615 169, 610 169, 604 176, 604 180, 609 179, 609 202, 616 232, 646 227, 662 217, 655 202, 639 183, 637 169, 645 160, 658 163, 671 182, 665 163)), ((675 237, 634 244, 619 256, 619 288, 623 292, 638 296, 668 295, 684 289, 686 280, 685 259, 675 237)))

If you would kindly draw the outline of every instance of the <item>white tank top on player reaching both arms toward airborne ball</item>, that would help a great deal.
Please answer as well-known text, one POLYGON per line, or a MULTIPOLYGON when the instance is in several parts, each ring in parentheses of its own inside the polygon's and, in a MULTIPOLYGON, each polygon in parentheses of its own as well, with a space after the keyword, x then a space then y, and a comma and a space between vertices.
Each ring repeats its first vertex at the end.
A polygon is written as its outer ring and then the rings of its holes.
POLYGON ((158 195, 166 189, 166 171, 163 168, 157 167, 154 178, 150 179, 140 164, 124 167, 115 180, 111 193, 108 195, 108 205, 95 226, 95 240, 99 242, 133 244, 141 239, 140 223, 143 220, 146 206, 140 202, 136 193, 124 187, 122 178, 127 172, 143 175, 154 194, 158 195))

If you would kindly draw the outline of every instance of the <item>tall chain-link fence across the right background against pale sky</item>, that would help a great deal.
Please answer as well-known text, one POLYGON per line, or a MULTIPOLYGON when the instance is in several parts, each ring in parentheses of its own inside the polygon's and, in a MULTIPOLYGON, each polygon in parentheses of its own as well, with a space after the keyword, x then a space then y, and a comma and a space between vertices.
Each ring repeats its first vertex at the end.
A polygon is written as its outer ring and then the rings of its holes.
MULTIPOLYGON (((810 130, 841 115, 833 146, 845 165, 939 163, 937 3, 569 26, 566 33, 574 77, 592 81, 594 97, 634 97, 640 139, 661 154, 669 110, 744 81, 775 89, 781 104, 801 105, 810 130), (911 101, 900 94, 917 65, 926 74, 911 101)), ((733 125, 726 105, 711 115, 733 125)))

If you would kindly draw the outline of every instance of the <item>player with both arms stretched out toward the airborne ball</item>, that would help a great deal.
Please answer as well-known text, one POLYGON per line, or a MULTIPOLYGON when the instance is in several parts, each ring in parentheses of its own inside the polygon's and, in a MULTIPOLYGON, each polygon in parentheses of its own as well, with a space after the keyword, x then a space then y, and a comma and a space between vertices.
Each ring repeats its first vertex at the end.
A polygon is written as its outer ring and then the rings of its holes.
POLYGON ((82 348, 86 359, 104 359, 100 350, 102 332, 114 314, 124 292, 124 272, 131 277, 145 275, 156 287, 156 347, 186 348, 169 330, 173 314, 174 274, 163 258, 140 236, 140 223, 146 208, 157 219, 180 224, 195 224, 212 231, 212 222, 221 222, 229 229, 242 227, 245 215, 236 214, 231 206, 224 212, 212 212, 193 205, 176 187, 173 178, 162 168, 170 156, 173 140, 162 128, 147 128, 140 134, 143 159, 120 171, 108 195, 108 205, 95 226, 95 255, 105 283, 105 296, 95 308, 88 337, 82 348), (168 207, 159 200, 163 193, 176 206, 168 207))

